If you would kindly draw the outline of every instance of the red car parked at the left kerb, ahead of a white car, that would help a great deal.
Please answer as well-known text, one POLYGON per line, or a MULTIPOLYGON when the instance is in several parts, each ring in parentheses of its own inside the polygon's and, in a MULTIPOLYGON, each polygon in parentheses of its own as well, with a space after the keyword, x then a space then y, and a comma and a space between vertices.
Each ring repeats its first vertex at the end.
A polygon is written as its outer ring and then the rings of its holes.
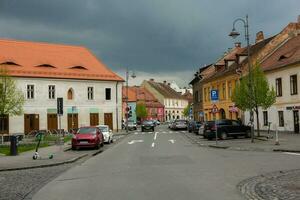
POLYGON ((72 138, 72 149, 91 147, 99 149, 104 145, 104 137, 100 129, 94 126, 81 127, 72 138))

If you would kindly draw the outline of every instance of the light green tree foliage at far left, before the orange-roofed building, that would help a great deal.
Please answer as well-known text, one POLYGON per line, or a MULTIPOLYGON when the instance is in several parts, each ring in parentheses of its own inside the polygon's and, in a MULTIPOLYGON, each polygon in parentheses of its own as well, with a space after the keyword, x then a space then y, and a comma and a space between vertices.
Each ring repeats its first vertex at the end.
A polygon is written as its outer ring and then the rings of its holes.
POLYGON ((23 113, 24 95, 16 86, 8 71, 0 68, 0 116, 21 115, 23 113))

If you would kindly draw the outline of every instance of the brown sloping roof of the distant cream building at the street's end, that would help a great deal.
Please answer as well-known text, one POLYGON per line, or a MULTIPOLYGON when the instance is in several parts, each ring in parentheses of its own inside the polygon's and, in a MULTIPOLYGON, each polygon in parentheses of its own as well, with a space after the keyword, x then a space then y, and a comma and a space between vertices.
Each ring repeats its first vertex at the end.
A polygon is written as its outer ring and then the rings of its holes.
POLYGON ((159 83, 154 81, 147 81, 151 87, 158 91, 165 98, 183 99, 181 94, 173 90, 167 83, 159 83))

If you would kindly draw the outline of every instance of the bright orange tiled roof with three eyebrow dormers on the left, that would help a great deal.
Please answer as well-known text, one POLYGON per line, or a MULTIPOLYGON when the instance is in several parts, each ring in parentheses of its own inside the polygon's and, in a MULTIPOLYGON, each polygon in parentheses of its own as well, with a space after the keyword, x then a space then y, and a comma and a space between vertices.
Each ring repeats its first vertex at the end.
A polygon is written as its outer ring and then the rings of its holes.
POLYGON ((0 39, 0 66, 15 77, 123 81, 81 46, 0 39))

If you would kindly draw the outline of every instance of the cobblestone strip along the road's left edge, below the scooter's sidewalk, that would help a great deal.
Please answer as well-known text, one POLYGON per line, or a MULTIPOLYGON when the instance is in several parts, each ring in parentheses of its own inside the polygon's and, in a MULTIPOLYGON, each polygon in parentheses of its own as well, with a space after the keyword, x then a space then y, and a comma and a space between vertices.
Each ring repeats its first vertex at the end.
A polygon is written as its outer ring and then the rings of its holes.
MULTIPOLYGON (((124 138, 124 135, 114 137, 114 144, 105 145, 103 151, 113 147, 124 138)), ((83 163, 92 156, 93 150, 86 150, 89 156, 75 163, 53 167, 35 168, 0 172, 0 200, 29 200, 46 183, 53 180, 68 169, 83 163)))

